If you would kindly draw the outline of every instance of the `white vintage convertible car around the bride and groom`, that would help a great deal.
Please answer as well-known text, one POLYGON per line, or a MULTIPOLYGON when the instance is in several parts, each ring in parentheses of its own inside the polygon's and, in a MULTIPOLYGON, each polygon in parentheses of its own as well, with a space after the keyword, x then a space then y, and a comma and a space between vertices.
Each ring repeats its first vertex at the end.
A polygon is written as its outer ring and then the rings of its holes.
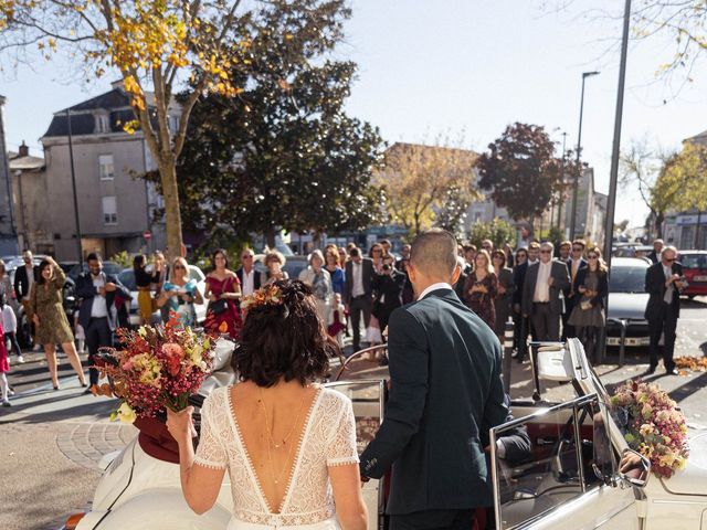
MULTIPOLYGON (((224 361, 230 351, 228 343, 219 344, 221 370, 204 383, 204 395, 235 380, 224 361)), ((362 350, 327 383, 351 399, 360 449, 383 420, 388 371, 379 361, 384 354, 380 347, 362 350)), ((485 528, 485 520, 494 518, 498 529, 707 528, 707 433, 692 433, 688 466, 671 479, 648 480, 645 458, 637 458, 631 474, 620 474, 626 443, 581 343, 570 339, 541 344, 536 364, 541 380, 571 382, 576 396, 564 403, 513 402, 516 418, 488 433, 495 506, 477 510, 476 528, 485 528), (502 455, 497 441, 519 432, 527 442, 525 449, 502 455)), ((225 528, 231 516, 228 475, 215 506, 197 516, 182 498, 179 466, 170 451, 166 431, 144 428, 119 454, 109 455, 91 511, 72 516, 64 528, 225 528)), ((386 484, 384 478, 363 486, 369 528, 387 528, 386 484)))

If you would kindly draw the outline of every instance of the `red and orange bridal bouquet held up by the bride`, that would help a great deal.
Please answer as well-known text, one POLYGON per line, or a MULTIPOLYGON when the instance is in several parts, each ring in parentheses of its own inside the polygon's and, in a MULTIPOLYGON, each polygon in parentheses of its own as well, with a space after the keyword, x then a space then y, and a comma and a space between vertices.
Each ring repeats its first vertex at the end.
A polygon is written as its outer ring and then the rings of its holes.
POLYGON ((133 423, 137 417, 155 417, 167 407, 181 411, 211 372, 214 338, 182 327, 178 318, 136 331, 120 328, 117 335, 122 348, 101 354, 101 370, 112 385, 104 385, 99 393, 122 400, 110 420, 133 423))

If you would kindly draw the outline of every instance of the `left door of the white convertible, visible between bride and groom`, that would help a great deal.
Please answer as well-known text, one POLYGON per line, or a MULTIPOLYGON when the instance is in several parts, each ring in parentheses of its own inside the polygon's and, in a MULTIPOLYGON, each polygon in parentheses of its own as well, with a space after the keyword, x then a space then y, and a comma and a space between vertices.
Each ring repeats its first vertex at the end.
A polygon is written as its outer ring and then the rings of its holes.
MULTIPOLYGON (((354 405, 356 443, 359 455, 373 439, 383 421, 386 382, 382 380, 336 381, 327 388, 341 392, 354 405)), ((384 528, 386 480, 371 479, 363 485, 363 500, 368 508, 368 528, 384 528)))

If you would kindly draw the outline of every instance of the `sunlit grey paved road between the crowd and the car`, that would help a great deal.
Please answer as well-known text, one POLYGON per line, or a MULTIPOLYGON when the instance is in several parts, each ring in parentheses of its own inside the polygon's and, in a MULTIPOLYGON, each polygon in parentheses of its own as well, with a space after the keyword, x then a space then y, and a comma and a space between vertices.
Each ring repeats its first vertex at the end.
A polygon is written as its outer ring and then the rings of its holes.
MULTIPOLYGON (((676 354, 707 354, 707 298, 685 301, 678 325, 676 354)), ((115 400, 85 395, 65 358, 60 357, 62 390, 49 383, 43 353, 27 353, 25 364, 13 365, 14 406, 0 409, 0 477, 3 530, 56 529, 67 513, 88 506, 99 479, 102 456, 123 447, 134 427, 110 423, 115 400)), ((85 361, 85 357, 84 357, 85 361)), ((609 385, 639 377, 647 352, 632 351, 624 367, 614 359, 600 367, 609 385)), ((371 374, 377 370, 371 364, 371 374)), ((658 381, 682 405, 690 425, 707 425, 707 373, 684 373, 658 381)), ((551 401, 567 399, 571 385, 546 385, 551 401)), ((514 363, 511 395, 530 398, 530 367, 514 363)))

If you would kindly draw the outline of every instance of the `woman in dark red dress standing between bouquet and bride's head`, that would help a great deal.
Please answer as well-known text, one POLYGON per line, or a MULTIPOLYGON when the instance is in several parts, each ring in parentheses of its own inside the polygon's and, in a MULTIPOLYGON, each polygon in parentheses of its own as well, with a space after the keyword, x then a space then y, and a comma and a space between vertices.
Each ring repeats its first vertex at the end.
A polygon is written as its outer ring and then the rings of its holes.
POLYGON ((226 332, 238 339, 243 321, 236 306, 241 298, 241 283, 233 271, 229 269, 229 258, 223 248, 211 255, 213 269, 207 275, 204 296, 209 299, 204 327, 226 332))

